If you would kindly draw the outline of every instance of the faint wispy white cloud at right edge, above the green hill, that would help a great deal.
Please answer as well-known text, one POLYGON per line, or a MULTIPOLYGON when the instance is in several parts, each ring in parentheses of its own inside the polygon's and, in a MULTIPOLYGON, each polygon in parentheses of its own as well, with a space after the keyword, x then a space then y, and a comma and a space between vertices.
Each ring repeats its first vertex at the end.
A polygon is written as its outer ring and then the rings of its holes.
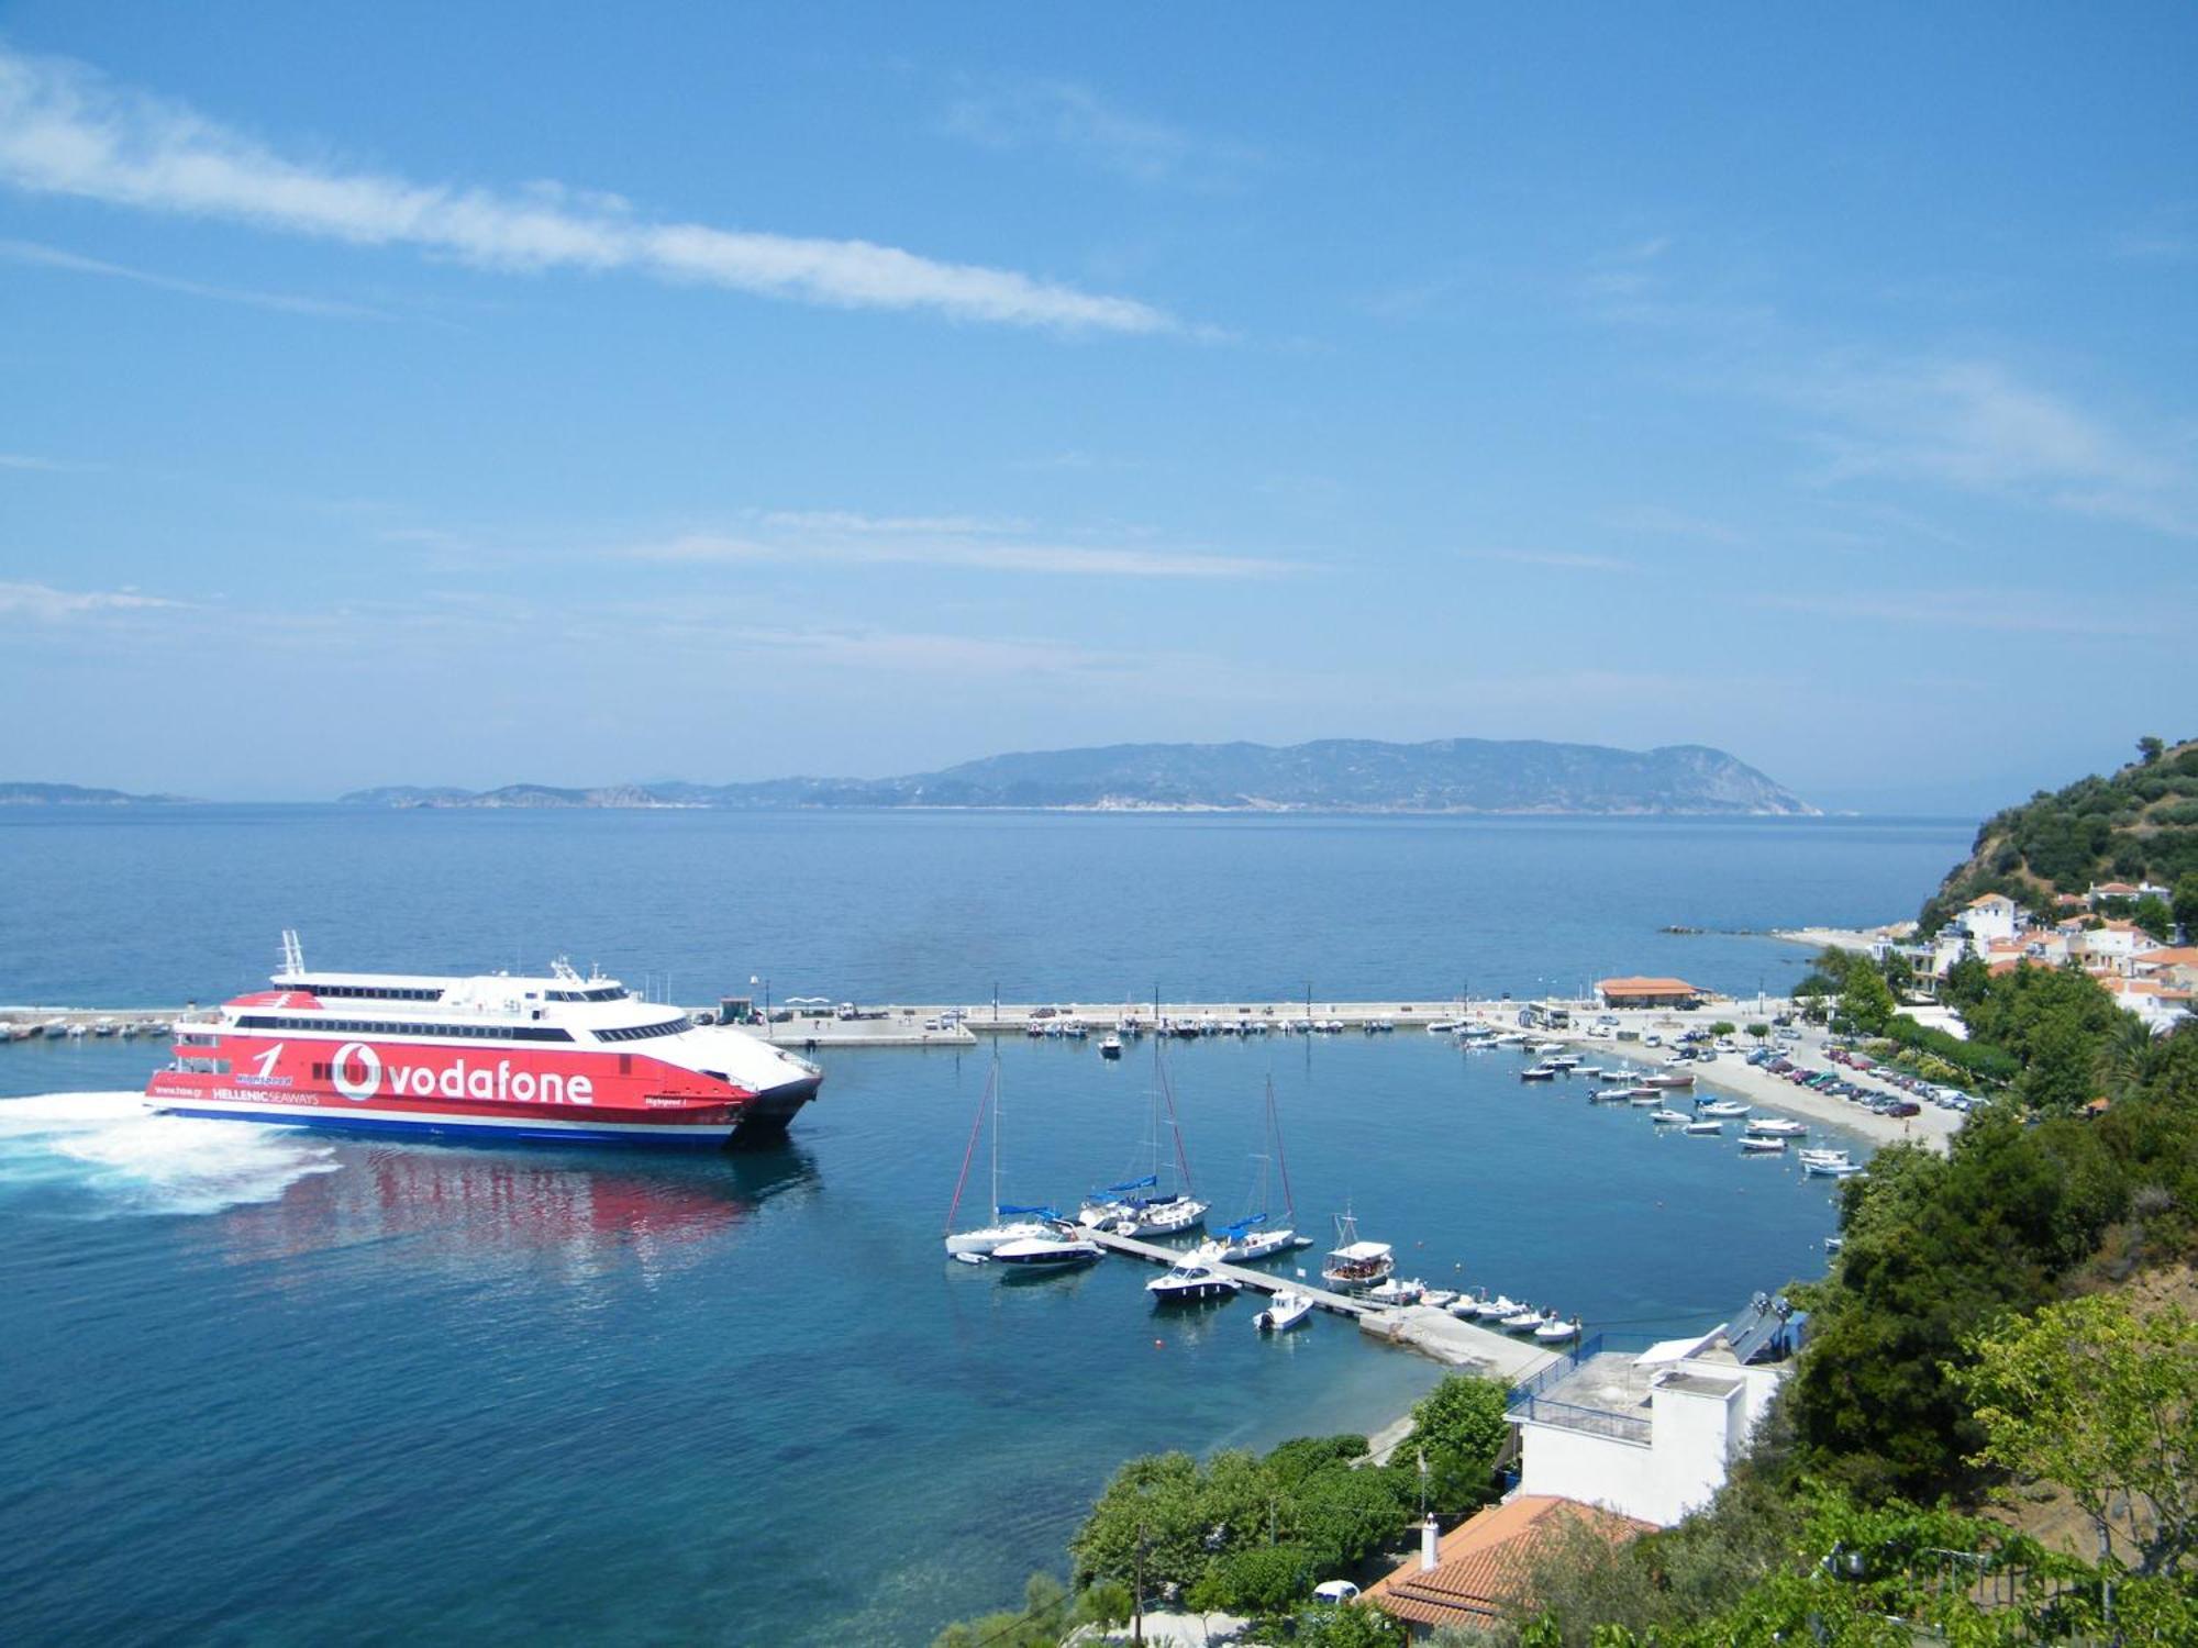
POLYGON ((2130 435, 1989 360, 1835 363, 1772 393, 1824 415, 1829 481, 1928 479, 2198 536, 2187 442, 2130 435))

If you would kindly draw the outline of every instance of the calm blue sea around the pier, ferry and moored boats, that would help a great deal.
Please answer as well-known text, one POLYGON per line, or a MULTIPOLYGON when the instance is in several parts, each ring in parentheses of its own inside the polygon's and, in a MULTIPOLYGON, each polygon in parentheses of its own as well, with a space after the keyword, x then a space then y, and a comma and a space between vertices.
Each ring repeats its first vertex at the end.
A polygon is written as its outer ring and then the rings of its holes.
MULTIPOLYGON (((686 1004, 1778 993, 1780 925, 1908 914, 1965 820, 0 811, 0 1002, 152 1009, 569 956, 686 1004), (1670 932, 1675 927, 1692 932, 1670 932)), ((1367 1433, 1442 1369, 1156 1310, 1125 1259, 947 1263, 1002 1195, 1150 1167, 1095 1044, 840 1050, 692 1160, 149 1116, 152 1042, 0 1048, 0 1641, 923 1644, 1009 1606, 1125 1457, 1367 1433), (987 1147, 969 1202, 983 1202, 987 1147)), ((1820 1274, 1831 1191, 1420 1031, 1167 1048, 1200 1193, 1334 1217, 1589 1332, 1820 1274)), ((1857 1143, 1860 1140, 1849 1140, 1857 1143)))

